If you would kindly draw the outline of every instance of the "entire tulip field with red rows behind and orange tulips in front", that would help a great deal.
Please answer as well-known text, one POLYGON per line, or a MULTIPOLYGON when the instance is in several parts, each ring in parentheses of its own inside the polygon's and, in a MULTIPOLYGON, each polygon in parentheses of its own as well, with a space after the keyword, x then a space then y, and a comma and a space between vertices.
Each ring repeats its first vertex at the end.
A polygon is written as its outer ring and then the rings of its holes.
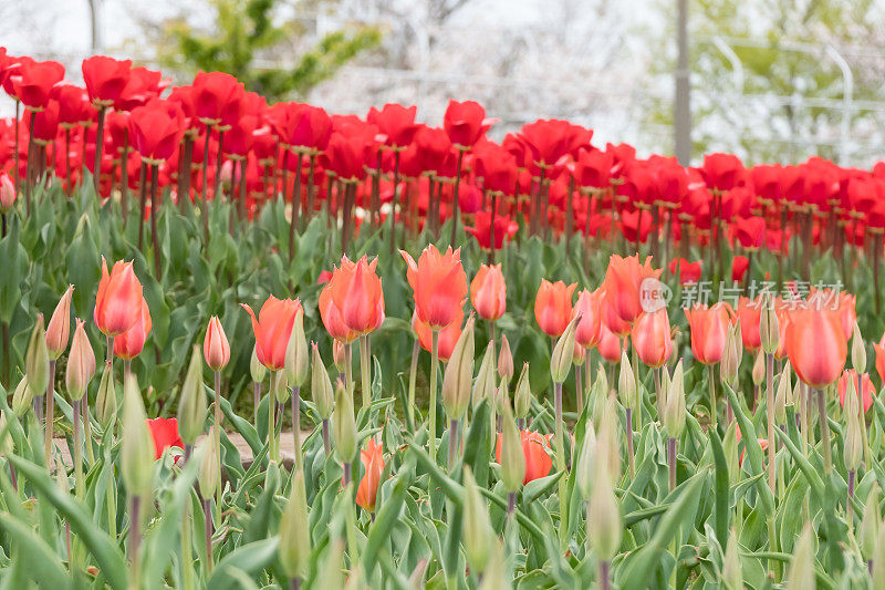
POLYGON ((6 587, 885 587, 885 165, 82 77, 0 49, 6 587))

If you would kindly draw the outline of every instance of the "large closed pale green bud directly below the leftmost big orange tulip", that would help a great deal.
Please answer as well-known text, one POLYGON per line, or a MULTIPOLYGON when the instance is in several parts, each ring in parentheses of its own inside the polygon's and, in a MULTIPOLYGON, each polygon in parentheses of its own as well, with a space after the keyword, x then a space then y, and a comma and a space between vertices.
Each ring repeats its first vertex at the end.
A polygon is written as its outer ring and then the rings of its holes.
POLYGON ((154 479, 154 438, 147 426, 142 392, 135 375, 129 373, 123 384, 123 443, 121 472, 131 496, 150 495, 154 479))

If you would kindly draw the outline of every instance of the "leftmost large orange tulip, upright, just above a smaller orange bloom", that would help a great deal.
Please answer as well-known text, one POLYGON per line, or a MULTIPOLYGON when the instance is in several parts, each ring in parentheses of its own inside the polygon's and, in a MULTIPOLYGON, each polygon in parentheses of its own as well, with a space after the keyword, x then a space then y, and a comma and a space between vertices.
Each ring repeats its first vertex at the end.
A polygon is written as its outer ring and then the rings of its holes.
POLYGON ((138 320, 142 302, 142 283, 135 276, 132 262, 117 260, 111 273, 102 257, 102 280, 95 296, 93 319, 105 335, 117 337, 138 320))

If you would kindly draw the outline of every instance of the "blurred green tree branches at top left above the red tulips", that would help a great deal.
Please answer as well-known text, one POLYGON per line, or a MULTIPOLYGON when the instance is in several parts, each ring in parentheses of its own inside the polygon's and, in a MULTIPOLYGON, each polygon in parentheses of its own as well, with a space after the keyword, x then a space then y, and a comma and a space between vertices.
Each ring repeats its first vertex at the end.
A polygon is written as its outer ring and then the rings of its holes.
POLYGON ((298 21, 279 22, 282 0, 211 0, 215 22, 208 32, 184 21, 167 25, 175 44, 160 48, 164 65, 188 73, 220 71, 237 76, 247 90, 267 99, 304 96, 310 89, 335 75, 358 53, 376 46, 381 32, 367 25, 348 25, 326 33, 292 61, 290 68, 266 66, 263 61, 292 60, 306 31, 298 21))

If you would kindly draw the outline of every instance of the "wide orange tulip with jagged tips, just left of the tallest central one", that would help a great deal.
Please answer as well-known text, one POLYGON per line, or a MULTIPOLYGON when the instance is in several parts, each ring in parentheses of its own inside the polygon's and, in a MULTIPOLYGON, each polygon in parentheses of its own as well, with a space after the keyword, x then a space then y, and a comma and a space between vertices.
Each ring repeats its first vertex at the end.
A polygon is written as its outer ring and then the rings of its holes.
POLYGON ((377 258, 368 262, 364 256, 351 262, 345 256, 323 289, 330 292, 344 325, 356 335, 377 330, 384 321, 384 291, 375 273, 377 265, 377 258))

